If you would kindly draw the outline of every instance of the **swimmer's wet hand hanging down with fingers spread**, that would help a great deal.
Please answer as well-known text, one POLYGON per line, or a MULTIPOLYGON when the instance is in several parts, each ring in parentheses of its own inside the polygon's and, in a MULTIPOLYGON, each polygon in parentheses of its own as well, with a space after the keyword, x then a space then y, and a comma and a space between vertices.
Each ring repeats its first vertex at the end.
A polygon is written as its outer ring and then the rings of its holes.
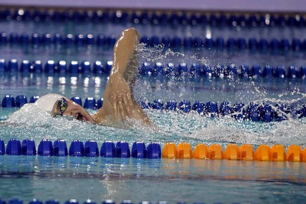
POLYGON ((126 116, 131 116, 133 110, 133 101, 129 84, 119 73, 112 74, 106 85, 106 92, 114 111, 114 120, 118 120, 118 113, 125 122, 126 116))

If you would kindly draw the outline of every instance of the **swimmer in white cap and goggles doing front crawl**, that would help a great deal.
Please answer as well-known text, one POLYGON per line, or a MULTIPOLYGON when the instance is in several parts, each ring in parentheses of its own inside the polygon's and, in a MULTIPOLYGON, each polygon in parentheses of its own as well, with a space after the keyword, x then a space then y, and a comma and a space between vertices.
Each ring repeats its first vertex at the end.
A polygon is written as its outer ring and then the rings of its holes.
POLYGON ((134 28, 124 30, 114 45, 113 66, 103 95, 103 107, 90 115, 82 106, 58 94, 47 94, 35 103, 52 116, 72 116, 79 121, 117 126, 127 118, 152 125, 134 98, 133 88, 138 72, 139 34, 134 28))

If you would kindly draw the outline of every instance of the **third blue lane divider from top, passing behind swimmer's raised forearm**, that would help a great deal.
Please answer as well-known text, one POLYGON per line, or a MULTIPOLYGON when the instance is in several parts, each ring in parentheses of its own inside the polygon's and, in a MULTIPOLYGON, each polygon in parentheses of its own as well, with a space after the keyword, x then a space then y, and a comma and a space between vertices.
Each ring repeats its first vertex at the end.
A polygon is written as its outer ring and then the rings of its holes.
MULTIPOLYGON (((12 60, 11 60, 12 61, 12 60)), ((67 68, 67 64, 65 61, 55 62, 53 60, 49 60, 43 66, 41 61, 34 61, 30 69, 24 69, 24 61, 22 61, 20 68, 14 67, 11 70, 10 62, 6 63, 5 60, 0 60, 0 73, 1 72, 26 72, 26 73, 41 73, 44 71, 47 74, 53 75, 56 73, 72 73, 72 74, 109 74, 113 65, 112 61, 107 62, 103 65, 101 62, 97 61, 93 63, 92 68, 90 68, 91 64, 87 61, 82 62, 81 65, 77 61, 72 61, 69 64, 69 68, 67 68), (23 68, 22 68, 23 66, 23 68), (42 67, 44 69, 42 70, 42 67), (25 71, 27 70, 27 71, 25 71)), ((18 64, 17 61, 15 61, 18 64)), ((28 63, 29 61, 27 61, 28 63)), ((281 65, 270 66, 266 65, 261 67, 259 65, 200 65, 197 63, 193 63, 191 65, 187 65, 186 63, 180 63, 179 65, 175 65, 173 63, 168 63, 163 65, 162 63, 156 63, 151 65, 150 63, 142 63, 139 67, 139 74, 143 76, 190 76, 190 77, 217 77, 217 78, 227 78, 231 77, 234 80, 236 77, 251 77, 253 79, 260 78, 304 78, 306 76, 306 66, 301 66, 297 68, 293 65, 284 67, 281 65)), ((23 100, 23 99, 22 99, 23 100)), ((31 100, 30 100, 31 101, 31 100)), ((18 103, 19 104, 19 103, 18 103)), ((87 104, 90 105, 90 104, 87 104)))

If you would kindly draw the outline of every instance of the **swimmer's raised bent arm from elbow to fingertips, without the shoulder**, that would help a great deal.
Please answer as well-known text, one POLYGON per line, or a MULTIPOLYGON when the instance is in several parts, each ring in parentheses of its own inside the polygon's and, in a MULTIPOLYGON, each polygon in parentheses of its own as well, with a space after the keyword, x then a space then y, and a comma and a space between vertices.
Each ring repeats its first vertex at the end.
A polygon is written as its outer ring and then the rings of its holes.
MULTIPOLYGON (((138 44, 138 32, 135 28, 129 28, 121 33, 114 46, 113 66, 106 92, 112 105, 115 121, 118 119, 118 113, 121 115, 122 121, 125 121, 126 114, 131 116, 131 111, 133 110, 134 103, 130 84, 126 82, 123 74, 134 56, 135 48, 138 44)), ((135 69, 137 68, 135 67, 135 69)))

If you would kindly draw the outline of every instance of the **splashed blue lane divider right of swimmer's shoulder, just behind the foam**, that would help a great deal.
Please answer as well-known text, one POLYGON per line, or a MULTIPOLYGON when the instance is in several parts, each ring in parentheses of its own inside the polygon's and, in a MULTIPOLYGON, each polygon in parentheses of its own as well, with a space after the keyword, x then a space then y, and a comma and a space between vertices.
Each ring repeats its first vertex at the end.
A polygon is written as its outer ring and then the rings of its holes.
MULTIPOLYGON (((141 107, 143 109, 157 109, 163 110, 164 102, 160 99, 155 99, 153 103, 141 101, 141 107), (157 103, 158 102, 158 103, 157 103), (158 105, 157 105, 158 104, 158 105)), ((256 104, 250 102, 247 106, 242 102, 238 102, 231 105, 230 102, 221 102, 219 108, 218 104, 213 101, 209 101, 206 104, 201 101, 195 101, 191 106, 191 103, 187 100, 179 102, 184 108, 173 108, 171 104, 177 104, 174 100, 169 100, 166 102, 165 111, 177 111, 180 112, 197 112, 200 115, 205 115, 210 118, 215 118, 218 116, 231 115, 237 120, 250 120, 250 121, 262 121, 262 122, 272 122, 272 121, 283 121, 288 120, 288 115, 292 118, 303 118, 306 117, 306 104, 302 105, 298 109, 291 109, 284 104, 275 104, 272 108, 271 104, 256 104), (187 105, 186 105, 187 104, 187 105), (188 107, 188 108, 186 108, 188 107)))

